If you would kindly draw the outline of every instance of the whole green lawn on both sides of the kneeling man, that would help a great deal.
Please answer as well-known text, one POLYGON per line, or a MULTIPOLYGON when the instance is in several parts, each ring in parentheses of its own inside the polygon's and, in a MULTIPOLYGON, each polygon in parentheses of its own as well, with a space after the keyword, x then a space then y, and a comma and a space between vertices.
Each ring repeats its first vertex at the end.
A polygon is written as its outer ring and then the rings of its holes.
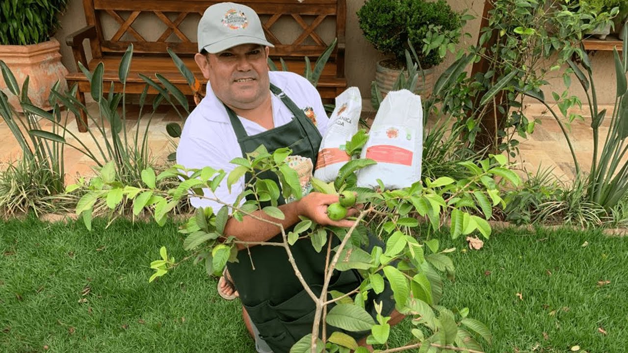
MULTIPOLYGON (((175 225, 105 225, 0 223, 0 352, 254 351, 239 303, 222 300, 202 266, 148 283, 160 246, 186 256, 175 225)), ((464 253, 463 239, 440 239, 458 249, 441 304, 468 307, 490 327, 486 352, 627 350, 628 238, 507 229, 464 253)), ((410 326, 391 339, 407 342, 410 326)))

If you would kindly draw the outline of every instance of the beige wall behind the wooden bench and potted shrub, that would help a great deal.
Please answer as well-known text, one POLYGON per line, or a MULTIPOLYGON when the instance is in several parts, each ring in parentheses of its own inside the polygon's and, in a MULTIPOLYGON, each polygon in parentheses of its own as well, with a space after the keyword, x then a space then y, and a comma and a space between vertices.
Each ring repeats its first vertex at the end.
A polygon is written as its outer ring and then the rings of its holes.
MULTIPOLYGON (((308 1, 308 0, 305 0, 308 1)), ((371 92, 371 81, 374 80, 375 65, 377 60, 382 58, 374 48, 368 43, 362 31, 358 26, 357 15, 355 14, 358 9, 364 4, 365 0, 347 0, 347 51, 346 51, 346 63, 345 73, 349 85, 357 86, 362 92, 363 97, 368 97, 371 92)), ((473 14, 476 19, 469 21, 465 30, 473 35, 472 38, 466 39, 460 46, 467 46, 474 44, 477 41, 477 34, 480 26, 480 16, 482 15, 482 9, 484 7, 484 0, 448 0, 448 3, 453 9, 462 10, 468 9, 470 14, 473 14)), ((187 19, 188 20, 188 19, 187 19)), ((65 45, 65 36, 73 31, 79 30, 85 26, 85 15, 83 11, 82 0, 70 0, 67 12, 61 19, 62 29, 57 32, 55 37, 62 43, 61 51, 63 55, 63 64, 70 71, 77 70, 72 55, 72 50, 65 45)), ((185 28, 188 31, 195 27, 193 21, 198 21, 198 18, 192 18, 190 23, 185 24, 185 28)), ((146 26, 146 24, 143 24, 146 26)), ((154 24, 159 26, 159 24, 154 24)), ((107 28, 106 28, 107 30, 107 28)), ((111 30, 111 29, 109 29, 111 30)), ((195 35, 190 38, 195 38, 195 35)), ((615 79, 614 79, 614 64, 612 61, 612 53, 610 52, 598 52, 593 56, 592 62, 595 67, 595 75, 597 79, 597 91, 598 100, 602 104, 612 104, 614 102, 615 92, 615 79)), ((436 69, 436 75, 440 74, 449 63, 452 62, 452 56, 449 55, 447 60, 442 63, 436 69)), ((556 79, 551 81, 553 86, 546 92, 546 97, 551 99, 551 90, 562 92, 564 86, 562 79, 556 79)), ((573 94, 578 95, 583 102, 586 102, 582 89, 578 89, 577 82, 573 82, 573 94)))

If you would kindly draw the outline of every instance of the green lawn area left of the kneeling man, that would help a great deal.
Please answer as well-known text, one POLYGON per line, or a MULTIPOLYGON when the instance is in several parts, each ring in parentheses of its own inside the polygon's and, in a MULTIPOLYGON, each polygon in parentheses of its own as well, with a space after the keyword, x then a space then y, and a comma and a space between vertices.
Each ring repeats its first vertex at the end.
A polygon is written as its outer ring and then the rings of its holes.
POLYGON ((160 246, 185 257, 175 225, 104 225, 0 223, 0 352, 254 350, 237 301, 203 266, 148 283, 160 246))

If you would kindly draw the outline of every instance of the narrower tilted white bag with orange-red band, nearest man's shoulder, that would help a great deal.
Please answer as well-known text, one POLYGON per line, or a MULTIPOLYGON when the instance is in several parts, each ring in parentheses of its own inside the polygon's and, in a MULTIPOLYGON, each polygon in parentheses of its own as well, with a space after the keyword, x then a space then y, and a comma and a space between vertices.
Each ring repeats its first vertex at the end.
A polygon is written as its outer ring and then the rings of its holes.
POLYGON ((362 112, 362 97, 357 87, 349 87, 336 97, 336 107, 329 119, 327 129, 318 149, 314 177, 323 182, 332 182, 340 167, 350 160, 345 144, 357 133, 362 112))

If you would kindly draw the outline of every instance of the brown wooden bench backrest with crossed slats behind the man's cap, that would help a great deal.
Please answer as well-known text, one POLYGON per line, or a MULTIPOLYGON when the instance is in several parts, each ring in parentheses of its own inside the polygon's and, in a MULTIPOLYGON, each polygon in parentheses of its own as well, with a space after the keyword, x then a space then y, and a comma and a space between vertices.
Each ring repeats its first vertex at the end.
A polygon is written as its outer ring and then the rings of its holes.
MULTIPOLYGON (((170 47, 178 55, 193 55, 198 52, 195 40, 198 20, 208 6, 219 2, 83 0, 87 24, 95 25, 97 31, 97 40, 92 41, 92 55, 99 58, 107 53, 123 53, 131 43, 134 53, 163 55, 170 47), (142 27, 142 23, 146 27, 148 21, 151 22, 148 35, 136 29, 142 27)), ((305 0, 303 3, 246 0, 241 3, 259 14, 266 38, 275 45, 271 48, 273 57, 317 58, 333 38, 338 38, 338 46, 344 48, 345 0, 305 0)), ((337 61, 338 46, 330 62, 337 61)), ((344 60, 340 58, 340 62, 344 60)))

